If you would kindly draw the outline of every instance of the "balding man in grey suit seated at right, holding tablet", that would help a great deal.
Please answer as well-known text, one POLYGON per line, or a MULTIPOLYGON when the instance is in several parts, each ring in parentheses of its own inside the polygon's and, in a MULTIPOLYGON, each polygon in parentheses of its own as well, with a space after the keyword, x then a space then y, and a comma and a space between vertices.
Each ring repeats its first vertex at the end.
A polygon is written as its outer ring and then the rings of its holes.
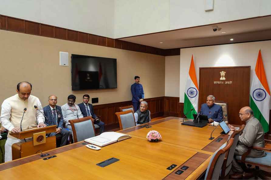
MULTIPOLYGON (((243 107, 239 111, 239 118, 241 121, 245 121, 245 128, 243 134, 239 136, 237 146, 235 148, 235 155, 242 156, 248 151, 248 147, 257 146, 264 148, 264 131, 261 123, 257 118, 254 117, 253 111, 250 107, 243 107)), ((230 130, 234 131, 235 127, 228 125, 230 130)), ((259 158, 265 156, 264 151, 252 149, 248 157, 259 158)), ((232 160, 232 171, 235 174, 230 175, 234 179, 249 179, 252 174, 245 173, 241 165, 233 158, 232 160)))

